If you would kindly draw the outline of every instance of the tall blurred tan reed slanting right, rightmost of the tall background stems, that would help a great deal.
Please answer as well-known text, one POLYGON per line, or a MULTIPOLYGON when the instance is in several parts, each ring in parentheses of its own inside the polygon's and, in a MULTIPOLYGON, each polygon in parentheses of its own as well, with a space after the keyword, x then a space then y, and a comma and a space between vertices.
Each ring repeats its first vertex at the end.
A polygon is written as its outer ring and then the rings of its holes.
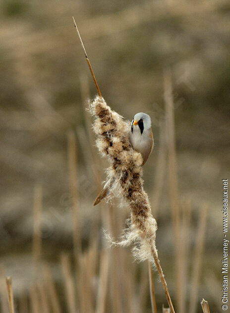
POLYGON ((191 280, 191 290, 190 290, 190 303, 189 303, 189 313, 195 313, 197 308, 197 298, 198 298, 198 287, 199 278, 202 262, 202 254, 204 248, 204 238, 207 224, 208 207, 203 205, 199 212, 199 225, 196 235, 196 243, 194 248, 194 259, 192 262, 192 280, 191 280))

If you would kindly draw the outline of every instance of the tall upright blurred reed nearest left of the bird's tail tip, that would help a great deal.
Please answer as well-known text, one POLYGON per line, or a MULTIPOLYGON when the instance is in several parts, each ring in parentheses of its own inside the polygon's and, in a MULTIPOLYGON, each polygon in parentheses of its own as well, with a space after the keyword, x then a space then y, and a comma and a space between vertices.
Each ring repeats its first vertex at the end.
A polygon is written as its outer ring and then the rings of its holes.
POLYGON ((70 193, 72 202, 72 234, 75 257, 81 251, 80 227, 79 227, 79 193, 77 180, 77 152, 76 138, 73 131, 68 133, 68 174, 70 181, 70 193))

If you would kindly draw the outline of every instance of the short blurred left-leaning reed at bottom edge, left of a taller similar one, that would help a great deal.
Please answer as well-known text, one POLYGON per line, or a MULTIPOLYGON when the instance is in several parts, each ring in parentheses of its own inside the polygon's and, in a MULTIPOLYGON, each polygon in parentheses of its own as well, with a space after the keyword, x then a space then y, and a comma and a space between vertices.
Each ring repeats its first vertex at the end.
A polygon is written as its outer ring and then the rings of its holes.
POLYGON ((53 313, 61 313, 60 304, 58 301, 58 294, 52 277, 51 269, 48 264, 43 265, 43 277, 46 284, 46 291, 50 299, 52 311, 53 313))

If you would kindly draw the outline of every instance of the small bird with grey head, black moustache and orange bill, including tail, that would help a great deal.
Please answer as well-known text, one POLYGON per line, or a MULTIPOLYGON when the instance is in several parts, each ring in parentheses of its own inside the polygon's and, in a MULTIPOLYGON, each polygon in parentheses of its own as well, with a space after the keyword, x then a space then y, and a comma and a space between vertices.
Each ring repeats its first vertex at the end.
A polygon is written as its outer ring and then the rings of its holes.
MULTIPOLYGON (((137 113, 131 123, 129 140, 134 150, 139 152, 143 158, 142 165, 145 164, 153 151, 153 132, 151 128, 150 116, 146 113, 137 113)), ((99 204, 108 194, 108 187, 105 184, 102 191, 94 201, 93 206, 99 204)))

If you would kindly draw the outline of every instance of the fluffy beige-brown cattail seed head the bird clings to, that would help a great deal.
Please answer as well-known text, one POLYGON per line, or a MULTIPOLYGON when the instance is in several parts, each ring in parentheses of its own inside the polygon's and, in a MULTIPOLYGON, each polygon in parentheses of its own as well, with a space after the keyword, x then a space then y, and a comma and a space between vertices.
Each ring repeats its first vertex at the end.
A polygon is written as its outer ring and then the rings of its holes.
POLYGON ((156 251, 157 223, 143 189, 141 154, 129 142, 130 122, 124 121, 99 96, 90 103, 89 111, 94 117, 93 130, 98 150, 111 161, 106 183, 109 192, 122 199, 131 211, 127 228, 116 244, 134 243, 132 251, 138 260, 153 261, 151 251, 156 251))

